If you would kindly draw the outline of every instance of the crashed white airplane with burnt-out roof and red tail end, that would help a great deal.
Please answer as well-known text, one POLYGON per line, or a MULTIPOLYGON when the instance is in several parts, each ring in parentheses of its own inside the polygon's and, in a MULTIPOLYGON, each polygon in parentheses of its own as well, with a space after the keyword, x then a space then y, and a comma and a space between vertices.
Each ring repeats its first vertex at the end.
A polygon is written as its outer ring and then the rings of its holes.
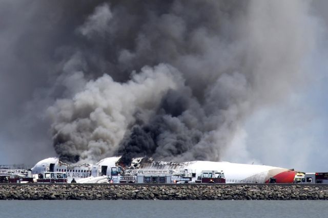
MULTIPOLYGON (((119 165, 120 157, 110 157, 99 161, 96 164, 70 165, 61 162, 58 158, 47 158, 39 161, 32 168, 33 175, 38 175, 44 171, 66 172, 68 182, 74 178, 79 180, 88 177, 100 177, 113 175, 113 169, 122 172, 124 169, 119 165)), ((153 161, 151 158, 135 158, 131 162, 129 169, 172 169, 176 171, 191 170, 196 175, 200 175, 202 170, 223 170, 226 176, 226 183, 269 183, 274 178, 276 183, 293 183, 295 171, 286 168, 238 164, 229 162, 213 161, 191 161, 183 163, 153 161)))

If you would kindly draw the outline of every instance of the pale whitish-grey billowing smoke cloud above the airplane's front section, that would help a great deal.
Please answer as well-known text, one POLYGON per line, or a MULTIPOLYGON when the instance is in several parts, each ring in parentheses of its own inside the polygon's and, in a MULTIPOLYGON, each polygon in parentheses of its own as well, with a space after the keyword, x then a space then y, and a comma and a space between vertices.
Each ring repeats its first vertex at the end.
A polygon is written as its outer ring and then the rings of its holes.
MULTIPOLYGON (((170 89, 183 84, 168 66, 144 67, 131 80, 118 83, 105 74, 89 81, 72 99, 59 99, 48 109, 52 118, 55 149, 83 160, 113 156, 138 111, 154 110, 170 89), (64 140, 64 139, 65 140, 64 140), (64 140, 64 141, 60 141, 64 140), (70 151, 71 150, 71 151, 70 151)), ((146 113, 145 113, 146 114, 146 113)))

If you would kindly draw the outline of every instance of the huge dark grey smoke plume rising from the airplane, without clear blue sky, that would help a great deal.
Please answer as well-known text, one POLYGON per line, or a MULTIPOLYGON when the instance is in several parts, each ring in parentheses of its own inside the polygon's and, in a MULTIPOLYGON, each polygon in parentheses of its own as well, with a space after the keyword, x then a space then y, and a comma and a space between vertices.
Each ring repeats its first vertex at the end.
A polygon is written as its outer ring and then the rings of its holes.
POLYGON ((68 162, 219 161, 248 116, 303 85, 315 40, 302 1, 23 3, 1 3, 17 33, 2 60, 39 78, 17 84, 33 95, 25 111, 46 111, 31 131, 50 125, 68 162))

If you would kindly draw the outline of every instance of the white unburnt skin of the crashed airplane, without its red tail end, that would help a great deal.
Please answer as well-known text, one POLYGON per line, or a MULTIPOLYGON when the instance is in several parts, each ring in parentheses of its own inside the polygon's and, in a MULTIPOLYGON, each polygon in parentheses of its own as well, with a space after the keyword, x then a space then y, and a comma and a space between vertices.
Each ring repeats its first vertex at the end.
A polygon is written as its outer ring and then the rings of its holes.
MULTIPOLYGON (((64 171, 67 173, 68 182, 71 182, 73 178, 75 180, 87 178, 90 176, 101 176, 101 166, 107 166, 107 175, 110 175, 111 167, 116 166, 116 162, 120 157, 105 158, 95 165, 93 164, 81 164, 81 165, 68 165, 59 162, 58 158, 48 158, 39 161, 32 168, 33 175, 43 173, 49 170, 50 164, 54 164, 54 171, 64 171)), ((170 166, 162 162, 161 169, 170 169, 170 166)), ((145 166, 145 169, 155 169, 151 164, 145 166)), ((212 162, 212 161, 192 161, 180 163, 176 170, 188 169, 196 173, 199 176, 202 170, 218 170, 223 171, 226 177, 226 183, 264 183, 268 178, 273 177, 277 172, 281 172, 284 168, 265 166, 265 165, 252 165, 252 164, 238 164, 229 162, 212 162)))

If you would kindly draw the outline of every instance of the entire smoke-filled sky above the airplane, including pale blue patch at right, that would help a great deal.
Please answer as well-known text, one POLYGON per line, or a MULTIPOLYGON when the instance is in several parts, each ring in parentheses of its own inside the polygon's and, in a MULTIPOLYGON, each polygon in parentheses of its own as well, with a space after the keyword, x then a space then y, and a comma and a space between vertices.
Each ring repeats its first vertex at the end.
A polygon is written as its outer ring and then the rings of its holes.
POLYGON ((327 140, 319 136, 327 129, 326 19, 317 8, 3 1, 0 157, 310 169, 327 140))

